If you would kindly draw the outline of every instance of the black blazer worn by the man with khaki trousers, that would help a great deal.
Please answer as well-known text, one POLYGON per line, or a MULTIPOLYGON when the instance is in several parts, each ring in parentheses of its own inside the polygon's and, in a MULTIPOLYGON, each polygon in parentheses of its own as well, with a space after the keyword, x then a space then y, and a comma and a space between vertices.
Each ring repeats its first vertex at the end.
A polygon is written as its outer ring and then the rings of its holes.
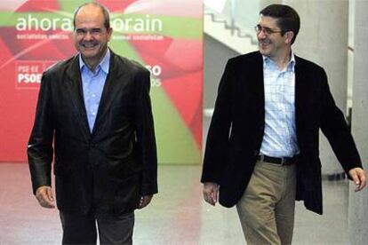
MULTIPOLYGON (((321 162, 318 132, 328 138, 346 172, 361 160, 344 115, 336 107, 322 67, 295 57, 295 120, 300 157, 297 200, 322 214, 321 162)), ((236 204, 252 176, 260 154, 265 102, 263 59, 252 52, 228 60, 208 132, 201 181, 220 185, 219 202, 236 204)))

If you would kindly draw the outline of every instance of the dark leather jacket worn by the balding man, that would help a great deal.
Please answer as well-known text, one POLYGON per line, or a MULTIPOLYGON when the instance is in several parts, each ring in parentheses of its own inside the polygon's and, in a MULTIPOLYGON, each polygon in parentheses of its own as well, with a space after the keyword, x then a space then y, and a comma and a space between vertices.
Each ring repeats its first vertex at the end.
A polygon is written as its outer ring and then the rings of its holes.
POLYGON ((46 70, 28 143, 34 193, 39 186, 51 186, 54 155, 56 200, 62 211, 116 215, 135 209, 140 195, 156 194, 149 88, 146 68, 111 51, 91 133, 78 56, 46 70))

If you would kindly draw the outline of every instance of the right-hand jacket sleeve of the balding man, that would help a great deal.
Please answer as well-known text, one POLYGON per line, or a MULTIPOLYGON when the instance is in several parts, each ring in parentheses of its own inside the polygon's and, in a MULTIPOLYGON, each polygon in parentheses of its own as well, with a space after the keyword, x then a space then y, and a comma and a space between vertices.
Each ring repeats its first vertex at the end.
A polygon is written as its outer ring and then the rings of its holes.
POLYGON ((140 194, 157 193, 157 154, 154 120, 149 98, 150 79, 148 70, 136 77, 136 135, 137 154, 142 166, 140 194))

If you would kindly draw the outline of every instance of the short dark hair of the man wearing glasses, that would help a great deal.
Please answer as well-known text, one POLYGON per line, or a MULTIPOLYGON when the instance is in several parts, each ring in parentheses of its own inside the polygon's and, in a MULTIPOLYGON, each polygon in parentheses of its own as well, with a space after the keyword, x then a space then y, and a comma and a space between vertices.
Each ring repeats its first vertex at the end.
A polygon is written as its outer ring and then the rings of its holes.
POLYGON ((276 19, 278 27, 282 30, 281 35, 285 32, 292 31, 292 43, 294 43, 296 36, 300 29, 300 18, 298 12, 292 7, 283 4, 271 4, 260 11, 263 16, 268 16, 276 19))

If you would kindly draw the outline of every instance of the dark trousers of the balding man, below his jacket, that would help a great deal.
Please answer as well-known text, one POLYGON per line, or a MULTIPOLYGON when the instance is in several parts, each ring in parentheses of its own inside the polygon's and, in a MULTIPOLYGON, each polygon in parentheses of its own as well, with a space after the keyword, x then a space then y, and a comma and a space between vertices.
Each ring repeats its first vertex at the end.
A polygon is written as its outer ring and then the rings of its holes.
POLYGON ((133 212, 118 217, 95 217, 93 214, 76 215, 60 211, 60 220, 62 244, 96 244, 97 229, 100 244, 132 244, 133 212))

